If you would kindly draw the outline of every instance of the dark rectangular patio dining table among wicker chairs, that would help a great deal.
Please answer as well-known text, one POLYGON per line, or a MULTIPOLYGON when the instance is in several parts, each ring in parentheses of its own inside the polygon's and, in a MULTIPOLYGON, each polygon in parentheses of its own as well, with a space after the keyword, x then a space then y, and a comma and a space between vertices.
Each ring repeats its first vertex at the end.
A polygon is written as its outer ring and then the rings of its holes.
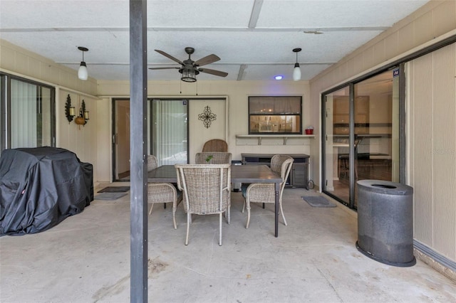
MULTIPOLYGON (((281 176, 271 171, 267 165, 232 165, 232 183, 274 183, 276 186, 275 233, 279 236, 279 188, 281 176)), ((174 165, 162 165, 147 173, 147 182, 150 183, 177 183, 177 174, 174 165)))

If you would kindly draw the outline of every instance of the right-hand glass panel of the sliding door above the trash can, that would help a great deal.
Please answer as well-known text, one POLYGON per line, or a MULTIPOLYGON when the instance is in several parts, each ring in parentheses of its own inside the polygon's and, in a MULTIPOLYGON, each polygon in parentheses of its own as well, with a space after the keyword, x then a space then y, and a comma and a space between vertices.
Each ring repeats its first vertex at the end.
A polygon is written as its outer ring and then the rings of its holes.
MULTIPOLYGON (((399 77, 398 69, 354 85, 355 123, 358 142, 355 158, 356 181, 363 179, 399 182, 399 77)), ((355 191, 357 187, 355 184, 355 191)), ((356 196, 353 207, 357 208, 356 196)))

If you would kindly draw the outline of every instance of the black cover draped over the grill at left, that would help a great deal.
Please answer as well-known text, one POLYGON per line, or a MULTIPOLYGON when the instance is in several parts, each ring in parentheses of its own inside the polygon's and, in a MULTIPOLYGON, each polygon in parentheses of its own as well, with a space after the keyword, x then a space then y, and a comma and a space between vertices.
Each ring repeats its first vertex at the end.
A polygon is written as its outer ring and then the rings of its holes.
POLYGON ((92 164, 66 149, 6 149, 0 157, 0 235, 47 230, 93 201, 92 164))

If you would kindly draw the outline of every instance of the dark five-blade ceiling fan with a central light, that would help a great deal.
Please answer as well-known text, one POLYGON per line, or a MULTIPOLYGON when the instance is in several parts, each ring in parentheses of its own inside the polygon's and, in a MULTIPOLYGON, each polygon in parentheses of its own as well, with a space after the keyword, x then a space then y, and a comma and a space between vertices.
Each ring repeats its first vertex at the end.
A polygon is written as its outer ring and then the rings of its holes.
POLYGON ((209 68, 199 68, 199 66, 207 65, 207 64, 214 63, 214 62, 220 60, 220 58, 214 54, 207 55, 204 58, 194 61, 190 58, 190 55, 192 55, 192 53, 195 52, 195 48, 185 48, 185 53, 188 54, 188 59, 184 60, 182 62, 181 60, 174 58, 169 53, 165 53, 163 50, 155 50, 155 51, 157 53, 160 53, 160 54, 164 55, 165 57, 170 58, 171 60, 179 63, 180 65, 182 65, 182 67, 180 67, 180 68, 175 68, 175 67, 174 68, 173 67, 149 68, 149 69, 150 70, 167 70, 167 69, 173 68, 173 69, 179 70, 179 73, 182 74, 180 80, 185 81, 185 82, 195 82, 197 80, 196 75, 198 75, 199 73, 207 73, 207 74, 211 74, 211 75, 217 75, 219 77, 227 77, 227 75, 228 75, 228 73, 222 72, 220 70, 211 70, 209 68))

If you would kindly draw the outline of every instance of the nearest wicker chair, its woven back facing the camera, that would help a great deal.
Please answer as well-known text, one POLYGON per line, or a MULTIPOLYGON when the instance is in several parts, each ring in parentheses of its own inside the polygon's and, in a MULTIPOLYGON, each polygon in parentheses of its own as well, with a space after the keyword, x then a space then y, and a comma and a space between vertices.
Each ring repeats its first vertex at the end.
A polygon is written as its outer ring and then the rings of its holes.
POLYGON ((231 198, 230 164, 175 164, 177 186, 182 191, 184 209, 187 213, 188 245, 192 214, 219 214, 219 245, 222 245, 222 213, 227 213, 231 198))

